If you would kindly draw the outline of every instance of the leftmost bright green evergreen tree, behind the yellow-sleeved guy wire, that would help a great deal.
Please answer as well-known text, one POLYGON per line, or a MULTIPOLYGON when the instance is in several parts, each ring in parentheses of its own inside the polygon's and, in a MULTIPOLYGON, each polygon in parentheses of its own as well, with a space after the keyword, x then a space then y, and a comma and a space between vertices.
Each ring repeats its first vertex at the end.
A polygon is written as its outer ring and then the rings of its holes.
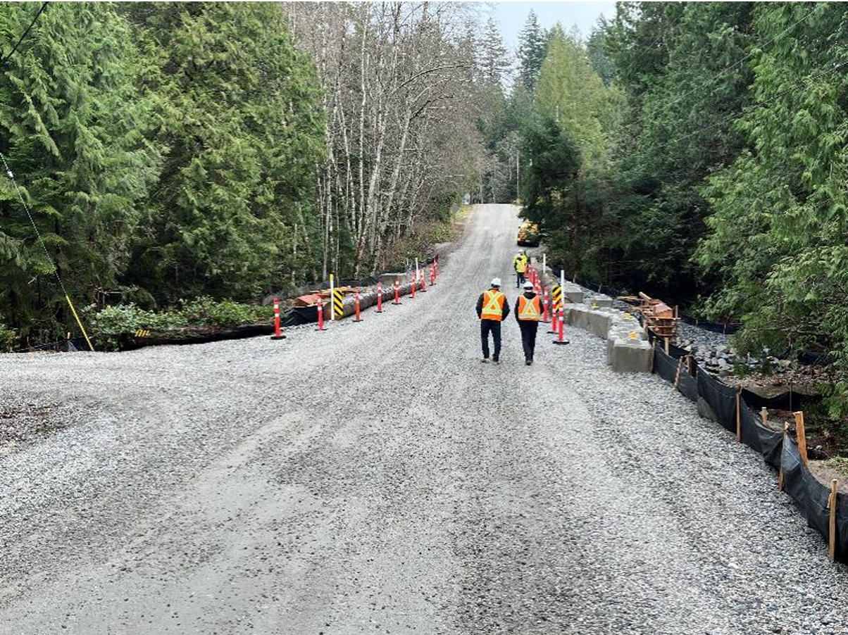
MULTIPOLYGON (((40 3, 4 3, 8 47, 40 3)), ((0 149, 77 304, 114 288, 155 181, 150 103, 127 25, 108 3, 51 3, 0 75, 0 149)), ((0 175, 0 308, 23 334, 64 333, 64 292, 25 209, 0 175)))

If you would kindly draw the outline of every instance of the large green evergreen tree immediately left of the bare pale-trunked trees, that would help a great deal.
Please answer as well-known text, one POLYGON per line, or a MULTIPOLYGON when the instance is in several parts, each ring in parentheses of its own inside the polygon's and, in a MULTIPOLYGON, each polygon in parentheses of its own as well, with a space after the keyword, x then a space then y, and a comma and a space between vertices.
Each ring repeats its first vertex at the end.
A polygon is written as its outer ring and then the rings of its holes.
POLYGON ((154 138, 166 148, 128 280, 163 300, 255 298, 289 270, 304 281, 300 234, 314 230, 306 219, 323 117, 313 65, 294 49, 281 5, 126 10, 148 57, 154 138))

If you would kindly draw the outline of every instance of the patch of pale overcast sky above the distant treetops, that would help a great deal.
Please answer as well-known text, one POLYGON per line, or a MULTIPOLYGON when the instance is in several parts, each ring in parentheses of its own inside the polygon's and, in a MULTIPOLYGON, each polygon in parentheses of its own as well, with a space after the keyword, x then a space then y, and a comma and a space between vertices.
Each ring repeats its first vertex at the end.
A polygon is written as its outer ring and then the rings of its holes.
POLYGON ((577 25, 583 36, 589 36, 592 27, 601 15, 612 19, 616 14, 614 2, 574 2, 574 3, 489 3, 490 10, 498 19, 501 35, 506 46, 515 53, 518 45, 518 31, 527 21, 530 9, 536 12, 539 24, 544 29, 550 29, 557 22, 568 31, 572 25, 577 25))

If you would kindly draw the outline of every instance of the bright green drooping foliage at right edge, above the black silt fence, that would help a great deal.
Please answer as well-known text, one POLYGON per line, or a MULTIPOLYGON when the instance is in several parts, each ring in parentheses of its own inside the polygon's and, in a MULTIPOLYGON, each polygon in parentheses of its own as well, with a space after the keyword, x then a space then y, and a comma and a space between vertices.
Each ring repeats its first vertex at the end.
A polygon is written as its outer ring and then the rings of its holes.
POLYGON ((742 315, 740 339, 825 349, 839 376, 828 398, 848 414, 848 64, 841 5, 762 5, 773 40, 751 60, 753 103, 736 123, 748 148, 703 193, 714 214, 696 260, 720 282, 707 305, 742 315))

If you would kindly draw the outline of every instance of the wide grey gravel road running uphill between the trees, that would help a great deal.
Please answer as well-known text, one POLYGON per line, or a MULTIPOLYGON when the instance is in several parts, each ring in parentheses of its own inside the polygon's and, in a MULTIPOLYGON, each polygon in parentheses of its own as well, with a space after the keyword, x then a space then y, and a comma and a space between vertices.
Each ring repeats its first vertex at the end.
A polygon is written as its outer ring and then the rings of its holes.
POLYGON ((0 357, 65 419, 0 455, 0 633, 848 632, 848 569, 658 377, 580 331, 527 367, 511 315, 479 363, 516 226, 361 324, 0 357))

